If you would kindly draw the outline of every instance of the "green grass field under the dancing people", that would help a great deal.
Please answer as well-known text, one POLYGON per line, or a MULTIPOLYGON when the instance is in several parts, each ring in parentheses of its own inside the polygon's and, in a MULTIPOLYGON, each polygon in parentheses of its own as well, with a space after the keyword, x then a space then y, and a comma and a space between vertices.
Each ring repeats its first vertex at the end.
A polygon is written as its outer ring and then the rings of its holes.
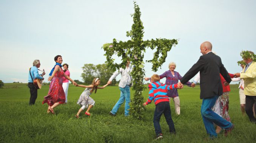
MULTIPOLYGON (((119 99, 120 90, 117 86, 108 86, 98 89, 91 97, 96 101, 91 109, 92 116, 80 114, 74 118, 80 106, 77 99, 83 88, 69 84, 68 104, 55 108, 55 115, 47 114, 47 105, 42 105, 43 96, 46 96, 49 86, 38 90, 35 105, 29 106, 29 89, 27 84, 6 83, 0 89, 0 142, 1 143, 102 143, 102 142, 213 142, 213 143, 253 143, 256 142, 256 125, 249 122, 247 115, 242 116, 240 110, 239 93, 237 86, 231 85, 229 114, 235 128, 228 137, 219 134, 213 141, 206 141, 200 107, 199 86, 195 88, 185 86, 179 90, 181 114, 175 115, 174 105, 171 102, 172 117, 176 128, 176 135, 170 135, 168 125, 162 116, 160 125, 163 139, 154 140, 153 126, 154 103, 146 107, 143 120, 133 117, 124 117, 122 105, 116 117, 109 116, 109 111, 119 99)), ((131 90, 131 96, 134 91, 131 90)), ((144 100, 148 97, 148 89, 143 92, 144 100)), ((133 97, 131 97, 133 99, 133 97)))

